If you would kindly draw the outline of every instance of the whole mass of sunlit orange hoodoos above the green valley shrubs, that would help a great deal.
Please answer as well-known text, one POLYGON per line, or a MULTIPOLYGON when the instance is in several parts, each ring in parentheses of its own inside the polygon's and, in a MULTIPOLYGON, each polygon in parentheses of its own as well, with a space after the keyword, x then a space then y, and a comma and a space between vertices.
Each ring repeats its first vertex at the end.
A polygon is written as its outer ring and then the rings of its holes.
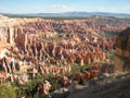
MULTIPOLYGON (((37 73, 51 72, 57 75, 70 72, 73 63, 84 65, 104 61, 108 57, 104 51, 114 49, 115 38, 101 34, 118 33, 123 28, 126 26, 114 27, 90 20, 0 20, 1 70, 9 74, 30 72, 31 76, 37 76, 37 73)), ((91 73, 96 77, 96 71, 91 73)), ((13 81, 15 76, 9 77, 13 81)))

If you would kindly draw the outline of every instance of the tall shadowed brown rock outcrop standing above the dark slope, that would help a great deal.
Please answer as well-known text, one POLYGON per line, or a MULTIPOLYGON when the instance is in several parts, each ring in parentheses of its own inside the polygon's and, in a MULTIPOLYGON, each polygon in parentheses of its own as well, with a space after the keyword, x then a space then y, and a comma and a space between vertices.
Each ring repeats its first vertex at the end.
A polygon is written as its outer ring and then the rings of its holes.
POLYGON ((120 72, 130 71, 130 28, 116 36, 115 70, 120 72))

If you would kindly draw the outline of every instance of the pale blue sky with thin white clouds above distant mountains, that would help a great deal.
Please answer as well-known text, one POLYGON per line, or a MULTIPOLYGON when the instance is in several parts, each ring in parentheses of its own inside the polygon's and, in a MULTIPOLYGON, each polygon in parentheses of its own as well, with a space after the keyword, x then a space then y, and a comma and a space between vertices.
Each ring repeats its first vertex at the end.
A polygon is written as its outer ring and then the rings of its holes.
POLYGON ((129 13, 130 0, 0 0, 0 13, 129 13))

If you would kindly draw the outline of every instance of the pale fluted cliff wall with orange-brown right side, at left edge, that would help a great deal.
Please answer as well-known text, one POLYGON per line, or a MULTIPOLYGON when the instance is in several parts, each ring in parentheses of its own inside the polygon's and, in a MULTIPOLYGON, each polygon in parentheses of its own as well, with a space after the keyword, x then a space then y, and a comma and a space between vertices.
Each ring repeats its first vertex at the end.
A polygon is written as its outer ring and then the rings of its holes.
POLYGON ((23 34, 23 29, 21 27, 0 27, 0 41, 8 42, 10 45, 16 45, 17 47, 25 49, 26 40, 26 34, 23 34))

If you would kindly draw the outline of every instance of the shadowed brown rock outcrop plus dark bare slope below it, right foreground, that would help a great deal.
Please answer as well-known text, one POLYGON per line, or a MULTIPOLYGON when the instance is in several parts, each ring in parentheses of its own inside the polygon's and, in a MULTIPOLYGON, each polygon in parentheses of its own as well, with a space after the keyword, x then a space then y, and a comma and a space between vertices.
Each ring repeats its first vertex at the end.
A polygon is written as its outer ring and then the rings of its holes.
POLYGON ((130 98, 130 28, 116 36, 115 72, 98 78, 93 86, 75 91, 67 98, 130 98), (127 73, 123 73, 127 72, 127 73))

